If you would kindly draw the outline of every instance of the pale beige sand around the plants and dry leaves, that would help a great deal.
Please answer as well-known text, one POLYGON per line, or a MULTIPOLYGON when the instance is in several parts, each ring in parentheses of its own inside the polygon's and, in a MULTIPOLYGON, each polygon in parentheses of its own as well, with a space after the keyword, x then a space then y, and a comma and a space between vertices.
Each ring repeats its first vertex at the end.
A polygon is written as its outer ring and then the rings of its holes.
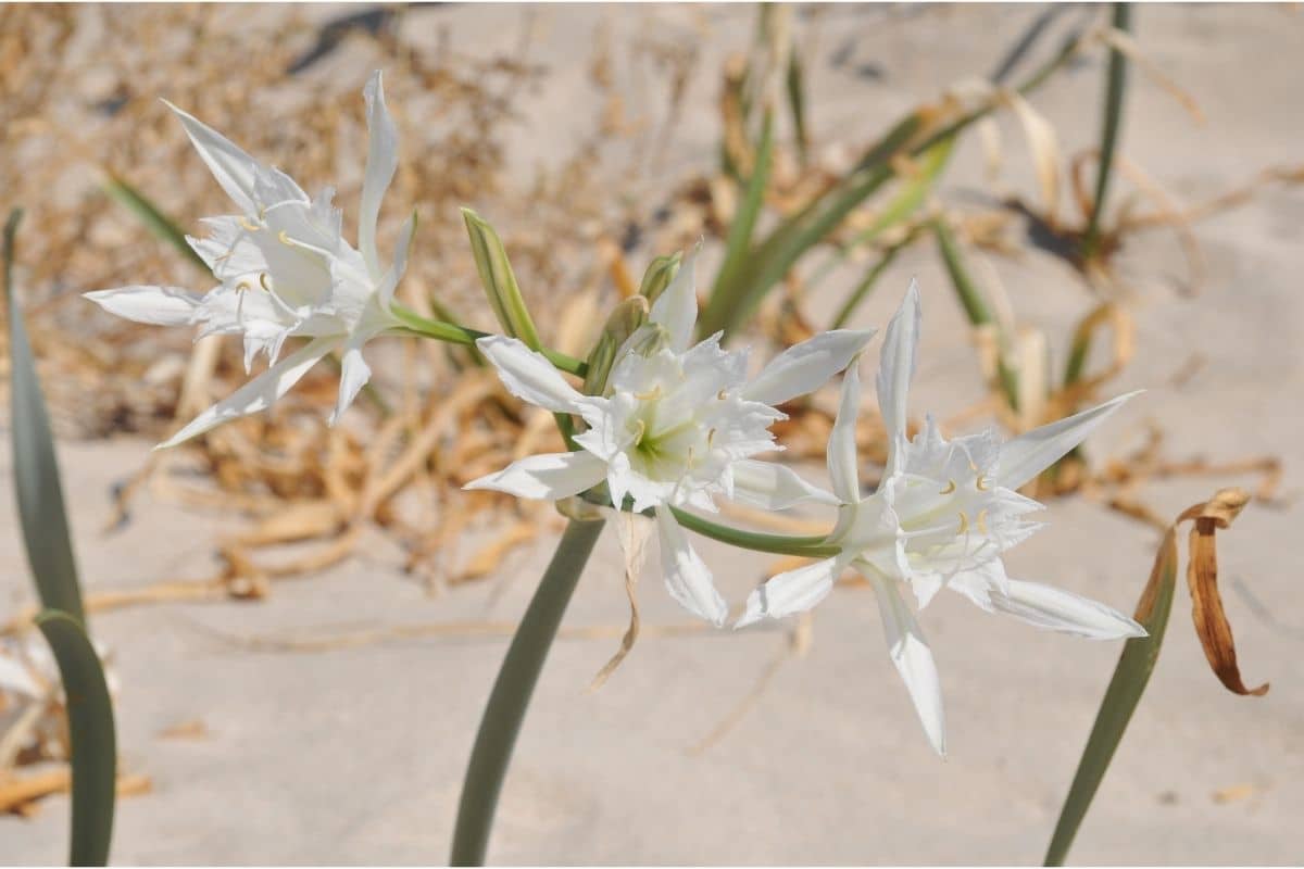
MULTIPOLYGON (((734 9, 537 9, 535 57, 550 68, 524 134, 523 159, 567 152, 567 111, 587 99, 588 42, 600 22, 617 38, 665 27, 699 39, 699 74, 675 130, 677 165, 713 159, 724 52, 743 43, 751 13, 734 9), (528 154, 527 154, 528 151, 528 154)), ((897 112, 957 78, 988 72, 1034 9, 952 8, 895 13, 841 8, 820 23, 811 63, 818 139, 866 139, 897 112), (842 51, 850 60, 835 63, 842 51), (846 52, 850 52, 846 55, 846 52), (859 70, 859 72, 857 72, 859 70)), ((463 47, 488 53, 519 38, 519 10, 425 13, 463 47)), ((1198 96, 1193 125, 1155 85, 1137 79, 1125 152, 1184 197, 1240 182, 1299 158, 1304 96, 1297 83, 1304 16, 1284 8, 1142 8, 1150 57, 1198 96)), ((1063 141, 1094 135, 1095 60, 1052 82, 1035 102, 1063 141)), ((589 112, 584 111, 584 117, 589 112)), ((1017 142, 1015 129, 1005 124, 1017 142)), ((1017 158, 1021 145, 1012 159, 1017 158)), ((947 195, 978 185, 970 141, 947 195)), ((1013 177, 1015 182, 1025 178, 1013 177)), ((1029 189, 1030 188, 1024 188, 1029 189)), ((1202 224, 1209 280, 1183 298, 1170 237, 1128 250, 1138 280, 1140 350, 1116 386, 1150 391, 1093 443, 1106 455, 1136 442, 1146 420, 1164 425, 1176 456, 1235 459, 1264 452, 1297 487, 1304 461, 1299 339, 1304 194, 1270 192, 1202 224), (1208 363, 1170 384, 1188 357, 1208 363)), ((1065 334, 1091 300, 1059 263, 998 266, 1017 309, 1065 334)), ((978 393, 960 314, 934 254, 902 258, 862 313, 882 324, 910 274, 925 297, 922 363, 913 409, 947 413, 978 393)), ((844 276, 850 280, 850 275, 844 276)), ((841 283, 840 285, 846 285, 841 283)), ((818 298, 816 313, 835 298, 818 298)), ((1052 350, 1063 353, 1063 339, 1052 350)), ((1058 357, 1061 358, 1061 357, 1058 357)), ((91 589, 203 572, 222 520, 143 503, 124 532, 104 534, 108 489, 149 444, 61 444, 80 562, 91 589)), ((9 486, 8 448, 0 483, 9 486)), ((1171 515, 1218 485, 1148 490, 1171 515)), ((1271 680, 1262 700, 1226 693, 1209 672, 1179 589, 1163 657, 1088 817, 1077 862, 1283 864, 1304 859, 1300 691, 1304 559, 1295 522, 1304 507, 1252 506, 1221 538, 1227 608, 1247 680, 1271 680), (1239 585, 1243 584, 1243 585, 1239 585), (1235 588, 1234 588, 1235 586, 1235 588), (1249 589, 1264 616, 1237 588, 1249 589), (1228 790, 1231 788, 1231 790, 1228 790), (1219 799, 1219 793, 1232 799, 1219 799)), ((1145 580, 1151 530, 1086 502, 1058 503, 1050 529, 1013 552, 1012 573, 1052 581, 1131 608, 1145 580)), ((0 499, 0 576, 8 605, 29 598, 12 502, 0 499)), ((278 586, 256 605, 132 608, 99 618, 123 681, 120 744, 128 769, 154 792, 119 808, 119 862, 437 862, 446 857, 471 739, 503 638, 407 640, 318 653, 256 651, 218 638, 321 633, 346 625, 507 621, 523 610, 549 554, 540 545, 494 582, 432 599, 398 571, 385 545, 325 576, 278 586), (160 737, 201 719, 206 739, 160 737)), ((726 597, 741 602, 767 564, 703 542, 726 597)), ((623 623, 614 534, 601 541, 569 612, 570 625, 623 623)), ((655 575, 643 590, 647 624, 682 616, 655 575)), ((925 614, 941 670, 949 757, 930 752, 884 654, 871 595, 841 590, 818 611, 815 641, 789 661, 750 714, 717 744, 703 740, 782 648, 777 631, 647 638, 595 694, 584 693, 614 640, 554 649, 522 736, 492 843, 496 862, 1034 862, 1043 853, 1118 646, 1039 633, 943 599, 925 614)), ((30 821, 0 819, 0 860, 63 859, 67 801, 30 821)))

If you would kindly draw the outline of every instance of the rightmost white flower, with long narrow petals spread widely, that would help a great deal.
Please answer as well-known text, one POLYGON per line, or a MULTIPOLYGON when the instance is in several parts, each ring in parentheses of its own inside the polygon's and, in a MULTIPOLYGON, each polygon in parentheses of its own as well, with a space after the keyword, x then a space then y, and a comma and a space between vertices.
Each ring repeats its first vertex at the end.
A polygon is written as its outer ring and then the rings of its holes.
POLYGON ((828 539, 842 551, 771 578, 751 594, 737 627, 808 610, 829 593, 844 569, 855 568, 875 589, 892 662, 930 743, 944 754, 938 671, 901 594, 902 584, 913 589, 921 607, 939 589, 948 588, 988 612, 1012 615, 1041 628, 1095 640, 1145 636, 1141 625, 1104 605, 1007 577, 1000 560, 1003 551, 1041 528, 1026 516, 1042 506, 1015 490, 1081 443, 1132 395, 1004 444, 991 431, 947 440, 931 418, 909 440, 906 392, 918 335, 919 293, 911 283, 887 328, 879 367, 879 406, 889 436, 883 482, 872 495, 861 495, 855 463, 859 378, 853 362, 828 444, 828 472, 841 504, 828 539))

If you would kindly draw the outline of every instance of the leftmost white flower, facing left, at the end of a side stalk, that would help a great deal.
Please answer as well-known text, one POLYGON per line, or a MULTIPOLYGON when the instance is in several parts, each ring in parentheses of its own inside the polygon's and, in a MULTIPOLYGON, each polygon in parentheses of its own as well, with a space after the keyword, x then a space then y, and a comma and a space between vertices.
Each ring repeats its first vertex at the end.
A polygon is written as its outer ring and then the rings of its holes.
POLYGON ((207 293, 177 287, 123 287, 86 293, 110 313, 141 323, 200 326, 200 336, 244 336, 245 370, 259 352, 273 365, 196 417, 162 447, 202 434, 228 420, 266 409, 318 360, 343 350, 334 425, 370 378, 363 345, 402 323, 390 313, 403 278, 416 216, 403 227, 394 262, 381 267, 376 221, 398 164, 398 135, 385 108, 381 73, 363 91, 369 143, 363 180, 359 246, 342 235, 333 189, 309 198, 293 178, 254 160, 216 130, 168 103, 190 142, 240 214, 209 218, 207 238, 190 238, 220 281, 207 293), (287 337, 308 344, 276 361, 287 337))

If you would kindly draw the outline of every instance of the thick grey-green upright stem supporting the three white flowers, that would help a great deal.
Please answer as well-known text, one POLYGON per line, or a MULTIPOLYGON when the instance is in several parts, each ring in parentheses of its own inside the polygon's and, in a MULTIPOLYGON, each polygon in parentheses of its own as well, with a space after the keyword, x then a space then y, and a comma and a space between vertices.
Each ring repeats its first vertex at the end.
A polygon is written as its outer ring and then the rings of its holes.
POLYGON ((511 640, 480 719, 475 748, 471 749, 452 834, 450 862, 454 866, 484 865, 498 793, 526 718, 526 707, 557 636, 566 605, 575 591, 575 584, 602 533, 602 525, 601 521, 571 520, 566 526, 516 636, 511 640))

